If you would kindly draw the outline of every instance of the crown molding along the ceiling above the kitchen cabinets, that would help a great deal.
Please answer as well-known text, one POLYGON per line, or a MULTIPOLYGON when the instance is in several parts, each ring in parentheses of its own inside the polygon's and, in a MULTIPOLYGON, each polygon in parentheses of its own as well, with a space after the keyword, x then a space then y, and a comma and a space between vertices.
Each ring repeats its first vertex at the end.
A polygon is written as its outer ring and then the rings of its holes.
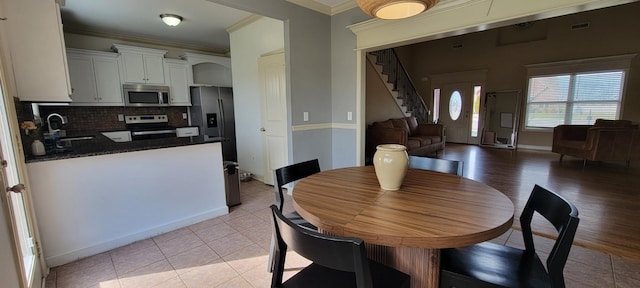
POLYGON ((229 54, 229 51, 226 49, 225 50, 214 49, 208 46, 185 44, 182 42, 171 42, 171 41, 165 41, 165 40, 160 41, 157 39, 127 35, 127 34, 116 34, 116 33, 110 33, 110 32, 98 32, 98 31, 92 31, 92 30, 73 29, 73 28, 65 28, 64 33, 79 34, 79 35, 93 36, 93 37, 100 37, 100 38, 110 38, 115 40, 131 41, 131 42, 142 43, 142 44, 172 47, 172 48, 183 49, 183 50, 200 51, 200 52, 205 52, 207 54, 214 54, 219 56, 227 56, 229 54))

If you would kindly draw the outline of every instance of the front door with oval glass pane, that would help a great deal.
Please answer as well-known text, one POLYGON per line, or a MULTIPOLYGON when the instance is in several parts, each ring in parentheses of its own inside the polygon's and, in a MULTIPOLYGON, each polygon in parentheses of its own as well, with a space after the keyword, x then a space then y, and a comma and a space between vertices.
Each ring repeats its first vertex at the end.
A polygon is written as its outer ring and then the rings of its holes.
POLYGON ((444 85, 440 93, 440 121, 445 127, 447 142, 470 143, 471 109, 470 82, 444 85))

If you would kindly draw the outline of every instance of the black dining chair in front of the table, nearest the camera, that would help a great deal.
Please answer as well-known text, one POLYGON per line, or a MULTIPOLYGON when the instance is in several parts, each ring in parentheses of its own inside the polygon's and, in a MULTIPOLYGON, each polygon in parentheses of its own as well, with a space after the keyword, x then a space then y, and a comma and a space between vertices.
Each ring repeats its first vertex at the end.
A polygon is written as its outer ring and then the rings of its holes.
POLYGON ((296 225, 275 205, 271 205, 271 212, 277 244, 272 288, 409 287, 409 275, 367 258, 363 240, 322 234, 296 225), (312 263, 283 282, 287 249, 312 263))

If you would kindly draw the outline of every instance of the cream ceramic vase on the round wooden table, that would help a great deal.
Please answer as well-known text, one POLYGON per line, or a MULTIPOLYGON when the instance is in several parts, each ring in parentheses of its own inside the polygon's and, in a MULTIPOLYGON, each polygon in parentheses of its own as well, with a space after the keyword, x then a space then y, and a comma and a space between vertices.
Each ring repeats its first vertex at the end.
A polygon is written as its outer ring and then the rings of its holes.
POLYGON ((383 144, 376 147, 373 166, 380 188, 391 191, 400 189, 408 165, 407 147, 399 144, 383 144))

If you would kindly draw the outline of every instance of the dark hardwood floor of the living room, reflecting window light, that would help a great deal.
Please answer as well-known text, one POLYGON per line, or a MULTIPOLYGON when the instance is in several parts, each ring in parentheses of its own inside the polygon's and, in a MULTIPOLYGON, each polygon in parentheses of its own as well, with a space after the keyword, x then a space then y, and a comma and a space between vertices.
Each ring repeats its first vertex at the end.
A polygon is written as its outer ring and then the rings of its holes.
MULTIPOLYGON (((579 211, 574 244, 640 261, 640 169, 624 162, 588 162, 546 151, 496 149, 447 143, 440 158, 464 161, 464 177, 505 193, 520 217, 535 184, 550 189, 579 211)), ((541 217, 537 215, 537 217, 541 217)), ((535 219, 534 233, 555 235, 535 219)), ((518 229, 519 220, 514 221, 518 229)))

